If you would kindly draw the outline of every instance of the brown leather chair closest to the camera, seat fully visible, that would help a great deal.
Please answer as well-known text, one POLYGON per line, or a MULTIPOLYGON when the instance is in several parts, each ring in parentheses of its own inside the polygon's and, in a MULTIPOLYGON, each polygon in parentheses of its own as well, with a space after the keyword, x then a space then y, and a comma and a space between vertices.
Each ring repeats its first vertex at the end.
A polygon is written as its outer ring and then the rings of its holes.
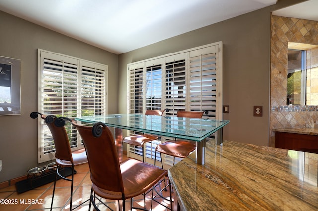
MULTIPOLYGON (((128 159, 120 163, 113 135, 104 123, 98 122, 93 127, 89 127, 72 121, 72 125, 79 131, 87 152, 92 181, 89 210, 91 203, 96 210, 99 210, 95 200, 100 200, 95 195, 105 199, 122 200, 119 204, 122 204, 123 211, 125 211, 125 200, 130 199, 132 210, 134 208, 132 198, 150 190, 167 175, 166 170, 139 160, 128 159)), ((171 190, 170 183, 167 186, 171 190)), ((171 209, 172 201, 170 207, 165 207, 171 209)))

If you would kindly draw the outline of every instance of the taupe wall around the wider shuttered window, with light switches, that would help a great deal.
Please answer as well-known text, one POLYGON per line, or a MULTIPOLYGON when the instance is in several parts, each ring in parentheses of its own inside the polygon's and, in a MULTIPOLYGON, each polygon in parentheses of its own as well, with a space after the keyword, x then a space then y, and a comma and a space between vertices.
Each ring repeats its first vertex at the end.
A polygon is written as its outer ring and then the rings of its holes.
MULTIPOLYGON (((279 1, 239 17, 194 30, 119 56, 119 112, 126 112, 127 64, 209 43, 224 44, 224 139, 269 144, 270 15, 295 0, 279 1), (263 117, 253 116, 263 106, 263 117)), ((299 1, 298 1, 299 2, 299 1)))

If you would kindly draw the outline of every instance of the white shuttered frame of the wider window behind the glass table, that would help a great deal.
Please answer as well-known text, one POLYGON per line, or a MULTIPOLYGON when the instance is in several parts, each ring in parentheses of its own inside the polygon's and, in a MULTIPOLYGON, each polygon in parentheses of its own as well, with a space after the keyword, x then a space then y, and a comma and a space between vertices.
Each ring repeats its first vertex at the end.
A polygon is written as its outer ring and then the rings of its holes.
MULTIPOLYGON (((154 66, 158 66, 161 65, 161 72, 162 72, 162 85, 161 85, 161 93, 162 93, 162 100, 161 100, 161 110, 165 109, 165 108, 169 108, 170 111, 168 113, 165 113, 164 115, 176 115, 177 114, 177 110, 186 110, 186 111, 204 111, 209 109, 209 107, 206 106, 206 102, 202 103, 202 99, 204 99, 206 101, 206 99, 210 99, 210 101, 212 101, 211 99, 213 97, 206 97, 209 94, 203 94, 202 89, 200 91, 198 91, 199 87, 206 87, 206 89, 208 89, 207 87, 209 87, 209 89, 211 89, 211 87, 213 86, 212 83, 208 86, 206 86, 207 82, 204 82, 204 85, 202 83, 202 78, 206 77, 205 75, 202 75, 202 72, 204 71, 203 69, 209 69, 210 67, 207 67, 203 65, 203 63, 208 63, 207 65, 212 65, 213 66, 213 61, 207 61, 207 60, 211 60, 211 59, 203 59, 203 56, 211 54, 211 53, 215 53, 215 72, 217 72, 217 74, 215 74, 215 80, 217 81, 217 87, 215 88, 215 105, 210 105, 211 107, 214 107, 214 112, 209 112, 208 115, 204 115, 205 118, 212 118, 212 119, 223 119, 223 113, 222 113, 222 106, 223 106, 223 43, 220 42, 216 42, 216 43, 212 43, 212 44, 208 44, 208 45, 204 45, 204 46, 200 46, 200 47, 196 47, 196 48, 192 48, 192 49, 187 49, 184 51, 180 51, 180 52, 176 52, 176 53, 170 53, 167 55, 162 55, 159 57, 155 57, 155 58, 150 58, 150 59, 146 59, 146 60, 142 60, 142 61, 138 61, 138 62, 134 62, 131 64, 127 65, 127 82, 128 82, 128 86, 127 86, 127 113, 133 113, 134 111, 138 110, 139 114, 144 114, 146 112, 146 109, 148 108, 148 106, 146 106, 146 72, 147 69, 149 69, 150 67, 154 67, 154 66), (193 67, 191 66, 193 63, 191 63, 191 58, 197 57, 195 62, 201 62, 200 63, 200 67, 199 67, 199 72, 200 74, 197 75, 196 73, 194 73, 196 76, 201 77, 201 83, 199 81, 198 82, 197 79, 195 79, 194 83, 192 82, 192 87, 191 86, 191 80, 193 81, 193 74, 191 76, 191 71, 190 69, 193 67), (199 61, 198 61, 199 59, 199 61), (167 71, 167 66, 168 64, 173 64, 173 63, 182 63, 184 62, 184 64, 182 64, 185 68, 184 70, 184 75, 178 75, 177 77, 179 77, 177 80, 182 83, 182 80, 185 81, 185 87, 181 88, 178 87, 177 91, 173 92, 174 88, 171 87, 171 91, 170 91, 170 96, 174 95, 175 93, 184 93, 182 95, 185 95, 185 99, 181 99, 182 102, 172 102, 170 106, 167 106, 168 103, 166 102, 166 71, 167 71), (210 62, 210 63, 209 63, 210 62), (212 63, 211 63, 212 62, 212 63), (136 96, 134 95, 134 91, 131 90, 130 88, 133 87, 134 85, 134 75, 133 72, 136 71, 138 69, 139 72, 143 72, 144 76, 143 79, 141 79, 141 81, 145 81, 143 82, 143 85, 140 86, 140 81, 138 83, 138 91, 139 93, 142 93, 142 96, 136 96), (185 77, 185 79, 182 79, 182 77, 185 77), (192 79, 190 79, 192 77, 192 79), (199 84, 199 85, 198 85, 199 84), (192 90, 191 90, 192 89, 192 90), (194 90, 194 91, 193 91, 194 90), (172 94, 171 94, 172 93, 172 94), (197 97, 195 100, 191 100, 190 95, 191 93, 201 93, 201 97, 197 97), (206 95, 204 97, 202 97, 203 95, 206 95), (141 103, 140 101, 134 101, 134 99, 143 99, 143 102, 141 103), (197 103, 195 101, 197 101, 197 99, 201 100, 201 103, 197 103), (135 103, 138 102, 139 106, 138 109, 132 109, 135 108, 135 103), (134 106, 131 106, 131 104, 133 104, 134 106), (174 106, 178 104, 177 106, 174 106), (142 106, 141 106, 142 105, 142 106)), ((182 68, 181 65, 181 68, 182 68)), ((213 67, 212 67, 213 69, 213 67)), ((172 72, 174 71, 174 68, 171 69, 172 72)), ((171 73, 172 73, 171 72, 171 73)), ((181 70, 182 72, 182 70, 181 70)), ((174 74, 174 72, 172 73, 174 74)), ((178 73, 177 73, 178 74, 178 73)), ((205 73, 207 74, 207 73, 205 73)), ((208 73, 209 74, 209 73, 208 73)), ((174 77, 174 75, 173 75, 174 77)), ((209 78, 211 79, 211 77, 209 78)), ((175 79, 171 79, 172 82, 175 81, 175 79)), ((171 83, 172 83, 171 82, 171 83)), ((169 86, 169 85, 167 85, 169 86)), ((171 85, 171 86, 176 86, 176 85, 171 85)), ((212 90, 210 90, 210 94, 211 92, 213 92, 212 90)), ((178 94, 176 94, 178 95, 178 94)), ((211 95, 212 96, 212 95, 211 95)), ((213 95, 214 96, 214 95, 213 95)), ((179 96, 178 96, 179 97, 179 96)), ((173 101, 173 100, 172 100, 173 101)), ((213 108, 212 108, 213 109, 213 108)), ((136 113, 136 112, 135 112, 136 113)), ((134 131, 128 131, 129 135, 133 135, 135 134, 134 131)), ((169 140, 169 137, 161 137, 160 141, 166 141, 169 140)), ((158 141, 153 141, 152 143, 146 143, 146 146, 144 147, 145 152, 145 162, 149 162, 149 163, 153 163, 153 158, 154 158, 154 148, 156 147, 156 144, 158 143, 158 141)), ((130 146, 129 144, 127 145, 127 155, 129 157, 132 158, 136 158, 136 159, 140 159, 141 160, 141 148, 138 146, 130 146)), ((159 154, 156 155, 156 158, 158 160, 160 160, 159 154)), ((169 156, 165 155, 165 158, 163 159, 163 163, 165 168, 168 168, 169 166, 172 165, 172 158, 169 158, 169 156)), ((177 160, 177 159, 176 159, 177 160)))

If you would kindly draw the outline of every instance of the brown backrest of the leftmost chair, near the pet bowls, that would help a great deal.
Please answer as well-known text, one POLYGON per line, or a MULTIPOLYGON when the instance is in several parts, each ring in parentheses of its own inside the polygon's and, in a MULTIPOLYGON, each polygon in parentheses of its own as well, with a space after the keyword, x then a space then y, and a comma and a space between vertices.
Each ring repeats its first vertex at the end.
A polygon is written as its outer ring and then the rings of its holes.
POLYGON ((54 145, 55 145, 55 158, 67 160, 73 163, 72 152, 69 142, 69 137, 64 126, 58 127, 55 125, 56 116, 44 115, 36 112, 30 114, 31 118, 37 118, 37 114, 45 120, 48 128, 51 131, 54 145), (34 114, 35 113, 35 114, 34 114))

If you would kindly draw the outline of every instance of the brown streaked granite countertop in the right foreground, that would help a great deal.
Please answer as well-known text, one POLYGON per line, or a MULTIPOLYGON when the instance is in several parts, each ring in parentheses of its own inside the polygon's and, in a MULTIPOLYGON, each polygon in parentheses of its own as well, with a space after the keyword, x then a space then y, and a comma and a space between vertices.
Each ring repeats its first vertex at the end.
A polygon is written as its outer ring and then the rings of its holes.
POLYGON ((209 141, 206 164, 194 160, 168 170, 184 210, 318 210, 318 154, 209 141))

